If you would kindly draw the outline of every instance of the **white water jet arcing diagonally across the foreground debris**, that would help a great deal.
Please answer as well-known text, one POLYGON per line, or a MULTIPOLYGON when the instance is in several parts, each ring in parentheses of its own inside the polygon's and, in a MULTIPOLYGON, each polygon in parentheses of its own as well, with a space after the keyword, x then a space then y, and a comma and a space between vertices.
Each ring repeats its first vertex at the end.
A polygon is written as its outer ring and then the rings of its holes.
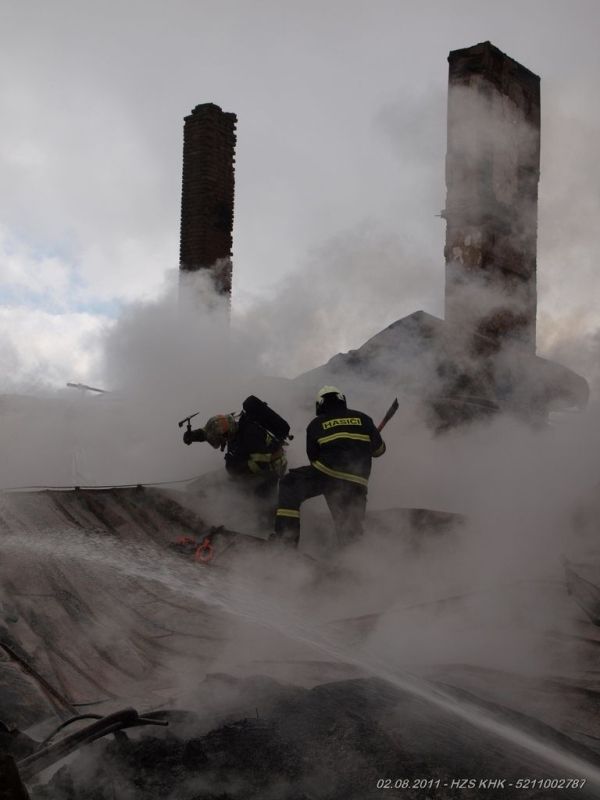
MULTIPOLYGON (((564 777, 585 778, 588 786, 600 791, 600 769, 594 764, 397 669, 394 664, 381 660, 365 648, 355 645, 348 647, 339 634, 307 624, 300 608, 282 603, 280 598, 269 597, 264 587, 253 581, 250 574, 236 573, 234 580, 222 570, 198 567, 150 544, 110 541, 106 536, 81 535, 72 530, 49 531, 43 538, 31 534, 3 534, 0 551, 5 556, 12 552, 20 557, 30 552, 32 556, 46 560, 79 562, 99 570, 116 572, 122 577, 156 582, 185 596, 188 601, 197 600, 237 618, 248 619, 335 661, 351 664, 384 679, 481 731, 522 748, 560 771, 564 777)), ((276 559, 277 554, 273 558, 276 559)))

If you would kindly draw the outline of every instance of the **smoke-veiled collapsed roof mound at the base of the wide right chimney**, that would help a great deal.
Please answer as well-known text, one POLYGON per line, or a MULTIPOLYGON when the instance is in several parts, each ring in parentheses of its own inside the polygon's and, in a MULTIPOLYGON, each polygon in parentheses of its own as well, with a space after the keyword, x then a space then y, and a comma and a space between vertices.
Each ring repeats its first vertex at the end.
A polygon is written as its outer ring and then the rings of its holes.
POLYGON ((475 335, 467 348, 464 338, 460 326, 416 311, 298 380, 373 381, 424 402, 438 421, 453 408, 462 419, 470 409, 473 415, 502 411, 540 420, 550 411, 587 404, 588 383, 573 370, 516 343, 496 352, 491 339, 475 335))

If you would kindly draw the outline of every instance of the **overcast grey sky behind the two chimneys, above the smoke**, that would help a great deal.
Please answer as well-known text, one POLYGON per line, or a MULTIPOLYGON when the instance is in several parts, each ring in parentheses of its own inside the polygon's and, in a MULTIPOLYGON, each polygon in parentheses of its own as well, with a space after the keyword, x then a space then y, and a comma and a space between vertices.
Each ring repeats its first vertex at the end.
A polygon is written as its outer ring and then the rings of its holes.
POLYGON ((441 314, 446 57, 486 39, 542 78, 540 345, 593 333, 599 19, 581 0, 0 0, 2 359, 85 377, 102 325, 158 294, 178 259, 182 118, 206 101, 239 118, 234 311, 307 265, 343 276, 354 242, 358 305, 363 272, 384 302, 371 289, 331 352, 441 314))

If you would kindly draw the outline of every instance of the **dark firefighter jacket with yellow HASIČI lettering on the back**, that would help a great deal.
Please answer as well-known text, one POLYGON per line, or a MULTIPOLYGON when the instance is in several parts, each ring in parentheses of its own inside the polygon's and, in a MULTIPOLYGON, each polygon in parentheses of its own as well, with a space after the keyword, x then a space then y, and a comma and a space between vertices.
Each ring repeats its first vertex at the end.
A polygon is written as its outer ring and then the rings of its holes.
POLYGON ((350 408, 319 414, 306 429, 310 463, 332 478, 367 486, 371 458, 385 453, 385 444, 371 417, 350 408))

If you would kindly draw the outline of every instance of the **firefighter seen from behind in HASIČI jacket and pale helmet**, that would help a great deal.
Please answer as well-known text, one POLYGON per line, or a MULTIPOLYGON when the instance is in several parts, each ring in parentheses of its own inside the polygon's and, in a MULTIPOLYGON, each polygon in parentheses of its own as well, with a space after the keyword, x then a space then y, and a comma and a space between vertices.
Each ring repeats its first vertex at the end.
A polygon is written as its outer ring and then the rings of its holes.
POLYGON ((300 537, 300 506, 317 495, 325 497, 340 545, 362 535, 371 459, 385 452, 371 417, 347 408, 335 386, 319 391, 316 413, 306 429, 310 465, 290 470, 279 483, 271 538, 294 547, 300 537))

